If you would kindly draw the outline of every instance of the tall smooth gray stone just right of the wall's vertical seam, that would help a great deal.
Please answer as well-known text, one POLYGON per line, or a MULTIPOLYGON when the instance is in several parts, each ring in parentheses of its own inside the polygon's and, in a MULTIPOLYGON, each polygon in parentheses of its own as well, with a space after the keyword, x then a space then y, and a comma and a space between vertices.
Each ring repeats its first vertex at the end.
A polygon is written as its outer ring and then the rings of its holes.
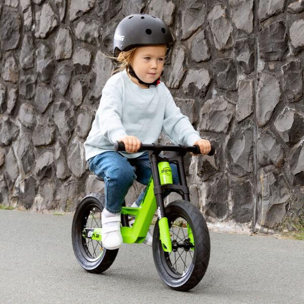
POLYGON ((256 121, 259 127, 270 121, 280 99, 280 85, 276 77, 267 72, 260 72, 256 92, 256 121))

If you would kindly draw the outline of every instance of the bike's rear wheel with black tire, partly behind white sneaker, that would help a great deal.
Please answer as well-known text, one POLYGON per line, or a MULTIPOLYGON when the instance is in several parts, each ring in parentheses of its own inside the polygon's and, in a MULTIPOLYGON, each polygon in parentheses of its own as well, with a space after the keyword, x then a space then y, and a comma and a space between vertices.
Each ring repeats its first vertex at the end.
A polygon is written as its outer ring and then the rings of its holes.
MULTIPOLYGON (((100 193, 90 193, 77 206, 72 222, 72 244, 75 257, 86 271, 92 273, 102 273, 106 271, 115 260, 118 249, 108 250, 102 247, 102 243, 96 240, 86 239, 82 236, 83 229, 86 227, 89 215, 99 213, 97 220, 94 219, 92 228, 101 227, 101 212, 104 208, 104 195, 100 193), (95 208, 95 209, 94 209, 95 208), (93 211, 92 211, 93 210, 93 211), (92 211, 92 212, 91 212, 92 211), (86 240, 89 240, 86 242, 86 240), (95 244, 95 247, 94 247, 95 244), (91 247, 90 247, 91 246, 91 247), (93 253, 92 248, 93 247, 93 253), (98 248, 98 249, 97 249, 98 248), (97 256, 96 250, 100 251, 97 256), (95 256, 94 256, 95 253, 95 256)), ((90 224, 88 226, 91 227, 90 224)))

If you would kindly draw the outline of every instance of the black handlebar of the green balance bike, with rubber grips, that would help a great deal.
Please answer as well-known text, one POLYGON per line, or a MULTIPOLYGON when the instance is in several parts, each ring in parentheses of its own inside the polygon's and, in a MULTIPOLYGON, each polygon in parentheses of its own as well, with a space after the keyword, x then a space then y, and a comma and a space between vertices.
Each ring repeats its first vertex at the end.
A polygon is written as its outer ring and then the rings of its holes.
MULTIPOLYGON (((125 144, 122 141, 116 141, 114 143, 114 150, 117 151, 126 151, 125 144)), ((192 152, 194 154, 201 154, 200 147, 198 145, 186 146, 186 145, 170 145, 170 144, 149 144, 149 143, 141 143, 138 152, 143 150, 149 151, 181 151, 192 152)), ((211 151, 208 153, 209 156, 214 155, 215 148, 211 145, 211 151)))

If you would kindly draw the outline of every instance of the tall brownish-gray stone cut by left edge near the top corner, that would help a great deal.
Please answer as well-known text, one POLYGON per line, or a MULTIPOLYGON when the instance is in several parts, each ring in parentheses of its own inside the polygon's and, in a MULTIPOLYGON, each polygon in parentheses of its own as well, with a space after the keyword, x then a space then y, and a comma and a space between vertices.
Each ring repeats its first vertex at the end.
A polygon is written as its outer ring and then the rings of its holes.
POLYGON ((21 18, 18 13, 6 11, 1 20, 2 49, 14 50, 18 47, 21 33, 21 18))

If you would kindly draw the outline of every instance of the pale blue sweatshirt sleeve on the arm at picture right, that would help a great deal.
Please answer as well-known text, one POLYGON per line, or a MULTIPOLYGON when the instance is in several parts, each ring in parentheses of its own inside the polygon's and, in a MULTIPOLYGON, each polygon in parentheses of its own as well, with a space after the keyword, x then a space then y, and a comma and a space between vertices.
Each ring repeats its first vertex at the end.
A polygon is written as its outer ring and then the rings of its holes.
POLYGON ((188 117, 180 112, 170 93, 167 95, 163 131, 174 144, 193 145, 201 139, 198 131, 194 129, 188 117))

